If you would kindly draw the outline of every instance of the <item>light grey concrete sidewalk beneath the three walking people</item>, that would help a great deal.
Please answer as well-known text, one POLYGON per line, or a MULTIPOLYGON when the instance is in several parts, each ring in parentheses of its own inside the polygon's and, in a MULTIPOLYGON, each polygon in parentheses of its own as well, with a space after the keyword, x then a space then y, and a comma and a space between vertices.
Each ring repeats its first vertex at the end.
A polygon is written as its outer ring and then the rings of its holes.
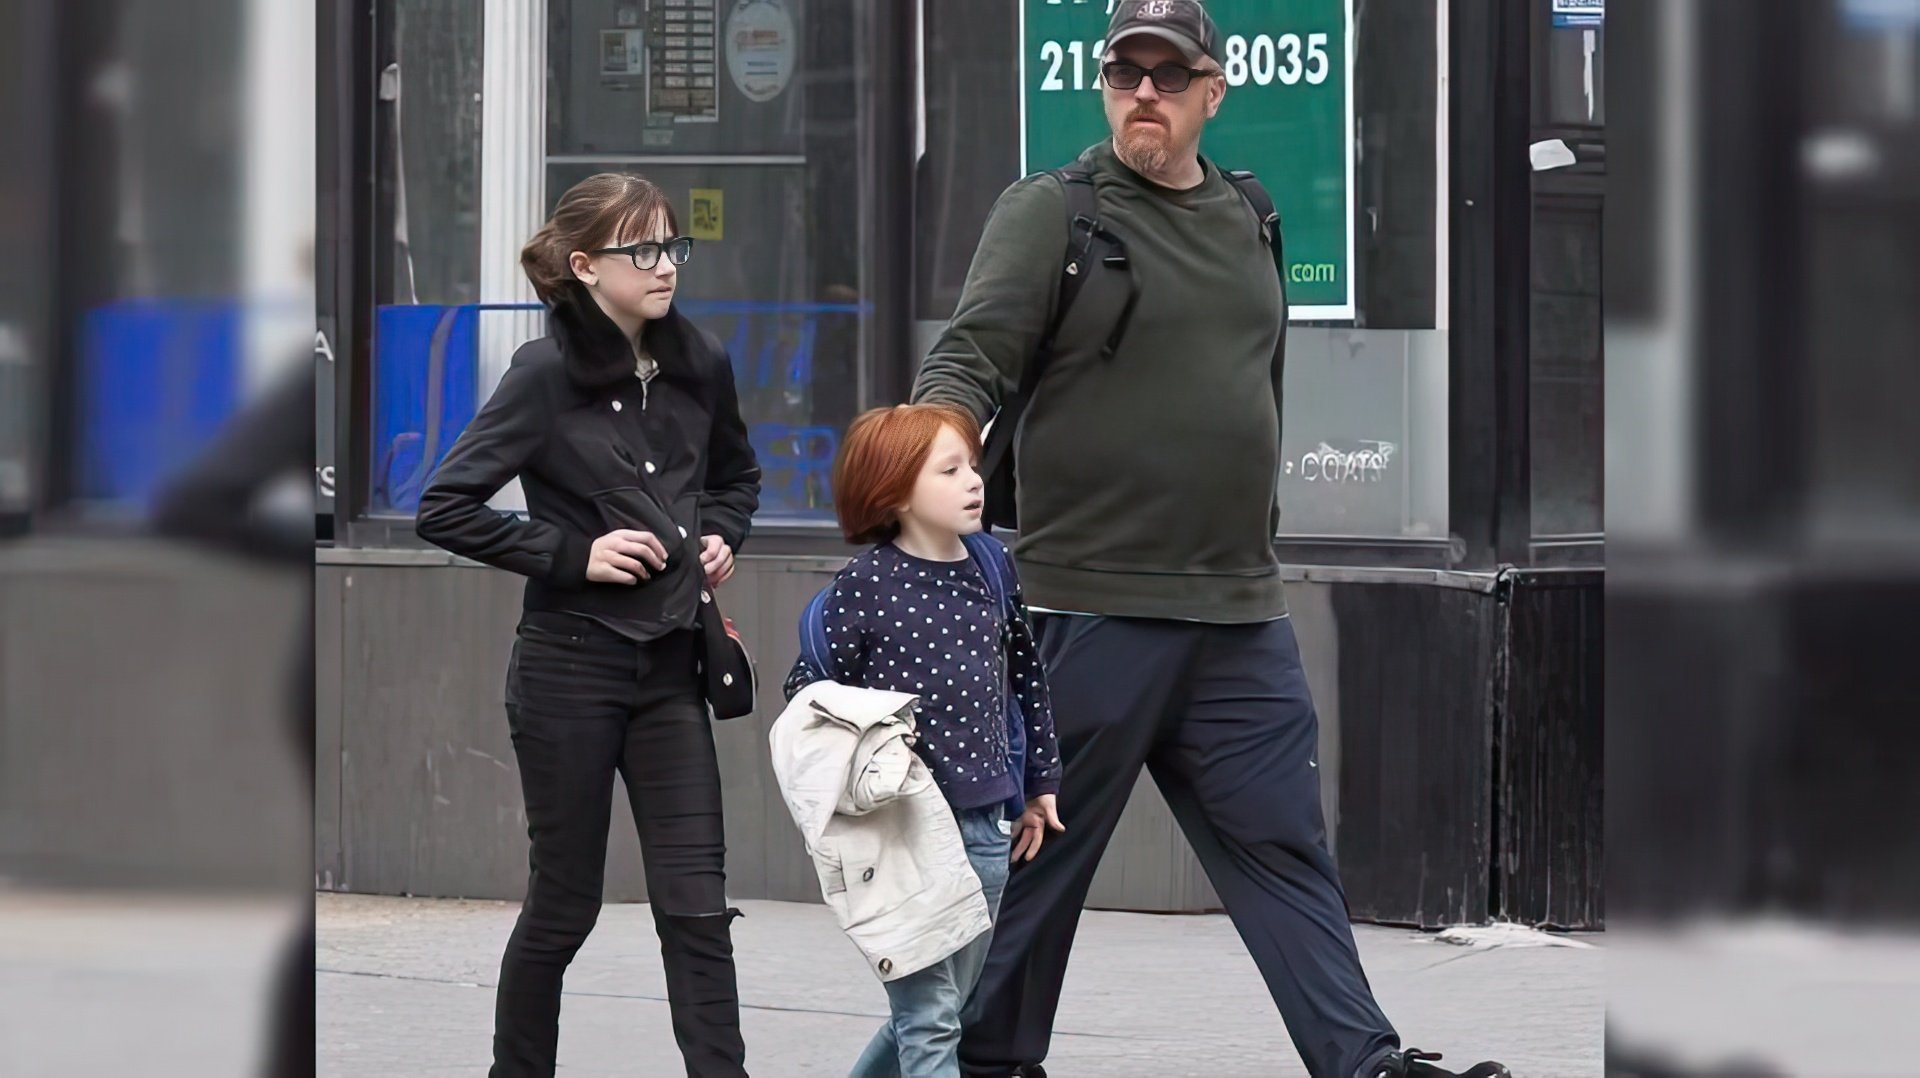
MULTIPOLYGON (((319 1072, 484 1074, 499 951, 518 907, 319 895, 319 1072)), ((743 901, 733 922, 747 1066, 847 1074, 885 1011, 822 905, 743 901)), ((1356 928, 1405 1043, 1524 1078, 1601 1074, 1603 951, 1450 945, 1356 928)), ((1588 936, 1603 943, 1605 936, 1588 936)), ((1058 1078, 1306 1074, 1225 917, 1089 913, 1046 1059, 1058 1078)), ((684 1074, 645 905, 609 905, 566 976, 561 1074, 684 1074)))

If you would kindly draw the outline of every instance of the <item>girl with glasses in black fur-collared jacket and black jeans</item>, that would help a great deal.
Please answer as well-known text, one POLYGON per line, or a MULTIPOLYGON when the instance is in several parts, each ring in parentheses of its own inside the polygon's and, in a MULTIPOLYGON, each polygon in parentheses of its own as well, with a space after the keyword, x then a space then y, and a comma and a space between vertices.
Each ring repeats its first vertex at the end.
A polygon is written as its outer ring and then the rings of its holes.
POLYGON ((520 254, 549 331, 520 346, 420 496, 422 538, 526 576, 505 703, 532 851, 493 1078, 553 1074, 561 980, 599 917, 614 776, 687 1074, 745 1074, 695 626, 707 588, 733 575, 760 469, 726 350, 674 309, 691 254, 641 177, 561 196, 520 254), (526 517, 488 507, 513 478, 526 517))

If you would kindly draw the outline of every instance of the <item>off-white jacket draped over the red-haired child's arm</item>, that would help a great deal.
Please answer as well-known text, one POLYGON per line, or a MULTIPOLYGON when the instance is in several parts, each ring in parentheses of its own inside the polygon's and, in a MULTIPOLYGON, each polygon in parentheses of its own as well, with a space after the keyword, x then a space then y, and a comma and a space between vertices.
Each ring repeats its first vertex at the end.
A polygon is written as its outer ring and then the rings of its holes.
POLYGON ((879 980, 920 972, 993 924, 960 824, 914 753, 914 701, 822 680, 768 732, 820 894, 879 980))

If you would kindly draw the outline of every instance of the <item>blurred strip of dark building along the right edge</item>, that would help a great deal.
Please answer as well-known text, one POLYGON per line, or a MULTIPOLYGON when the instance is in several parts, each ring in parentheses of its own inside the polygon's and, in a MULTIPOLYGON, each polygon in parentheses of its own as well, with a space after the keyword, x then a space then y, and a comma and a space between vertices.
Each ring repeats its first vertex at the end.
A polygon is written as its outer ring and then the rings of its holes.
POLYGON ((1920 2, 1607 19, 1609 1070, 1910 1074, 1920 2))

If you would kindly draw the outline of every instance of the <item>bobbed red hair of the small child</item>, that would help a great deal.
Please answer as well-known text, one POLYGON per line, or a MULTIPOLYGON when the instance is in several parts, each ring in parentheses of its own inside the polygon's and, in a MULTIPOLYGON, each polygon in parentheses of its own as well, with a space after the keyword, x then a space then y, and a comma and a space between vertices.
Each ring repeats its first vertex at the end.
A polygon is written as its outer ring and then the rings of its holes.
POLYGON ((876 407, 847 427, 833 459, 833 511, 847 542, 887 542, 900 534, 900 505, 914 498, 914 482, 943 427, 952 427, 979 453, 979 423, 954 404, 876 407))

